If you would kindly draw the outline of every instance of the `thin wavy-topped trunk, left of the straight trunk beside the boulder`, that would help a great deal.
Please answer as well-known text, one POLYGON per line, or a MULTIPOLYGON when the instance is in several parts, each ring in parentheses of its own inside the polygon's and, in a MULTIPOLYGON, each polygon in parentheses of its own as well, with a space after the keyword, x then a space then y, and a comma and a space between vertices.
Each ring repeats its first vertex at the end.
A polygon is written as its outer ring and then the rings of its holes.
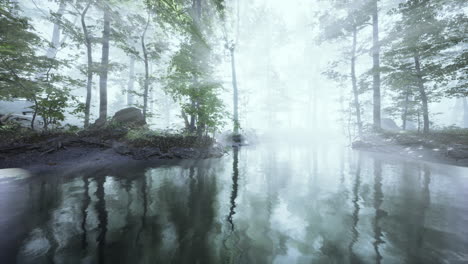
POLYGON ((83 35, 85 37, 86 53, 88 57, 88 66, 86 69, 87 81, 86 81, 86 104, 85 104, 85 122, 84 127, 89 126, 89 116, 91 112, 91 93, 93 86, 93 47, 91 44, 91 38, 89 36, 88 28, 86 26, 86 13, 88 13, 91 1, 88 2, 83 13, 81 14, 81 27, 83 29, 83 35))

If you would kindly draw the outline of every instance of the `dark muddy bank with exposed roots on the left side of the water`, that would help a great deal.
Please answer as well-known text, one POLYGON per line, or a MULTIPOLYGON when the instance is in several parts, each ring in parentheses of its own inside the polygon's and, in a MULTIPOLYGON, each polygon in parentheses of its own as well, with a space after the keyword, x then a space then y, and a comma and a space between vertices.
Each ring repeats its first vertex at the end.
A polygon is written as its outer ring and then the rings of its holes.
POLYGON ((0 168, 30 170, 84 169, 115 164, 139 164, 221 157, 224 147, 214 142, 192 144, 191 138, 158 137, 129 142, 121 137, 58 135, 35 142, 0 145, 0 168))

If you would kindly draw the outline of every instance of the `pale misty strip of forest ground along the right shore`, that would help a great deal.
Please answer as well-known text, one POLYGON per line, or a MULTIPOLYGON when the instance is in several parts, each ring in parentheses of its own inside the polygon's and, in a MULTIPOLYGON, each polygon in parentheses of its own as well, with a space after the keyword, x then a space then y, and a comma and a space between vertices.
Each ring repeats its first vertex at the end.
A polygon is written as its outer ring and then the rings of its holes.
POLYGON ((353 143, 354 149, 397 155, 468 167, 468 130, 432 131, 426 135, 417 132, 389 132, 366 134, 353 143))

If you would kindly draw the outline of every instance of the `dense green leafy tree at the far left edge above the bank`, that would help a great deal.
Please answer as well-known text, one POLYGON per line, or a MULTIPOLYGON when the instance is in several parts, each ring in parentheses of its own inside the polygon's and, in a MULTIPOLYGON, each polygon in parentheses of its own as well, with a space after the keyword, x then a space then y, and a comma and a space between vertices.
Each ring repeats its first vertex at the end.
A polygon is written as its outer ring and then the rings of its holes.
POLYGON ((0 14, 0 98, 32 101, 32 129, 37 116, 42 117, 44 129, 58 125, 65 118, 65 108, 73 102, 70 99, 76 99, 70 95, 71 87, 78 84, 56 73, 59 67, 67 65, 67 61, 55 59, 58 31, 53 32, 54 45, 45 56, 39 56, 36 48, 43 47, 44 41, 33 32, 29 21, 19 15, 18 7, 1 2, 0 14))

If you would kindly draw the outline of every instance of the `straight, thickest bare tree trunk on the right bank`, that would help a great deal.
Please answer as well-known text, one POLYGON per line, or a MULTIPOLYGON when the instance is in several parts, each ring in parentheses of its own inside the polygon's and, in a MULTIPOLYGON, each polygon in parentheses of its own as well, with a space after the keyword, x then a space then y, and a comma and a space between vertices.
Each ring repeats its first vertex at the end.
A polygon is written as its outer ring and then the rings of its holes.
POLYGON ((372 1, 372 77, 373 77, 373 99, 374 99, 374 129, 381 129, 381 102, 380 102, 380 44, 379 44, 379 11, 377 0, 372 1))

